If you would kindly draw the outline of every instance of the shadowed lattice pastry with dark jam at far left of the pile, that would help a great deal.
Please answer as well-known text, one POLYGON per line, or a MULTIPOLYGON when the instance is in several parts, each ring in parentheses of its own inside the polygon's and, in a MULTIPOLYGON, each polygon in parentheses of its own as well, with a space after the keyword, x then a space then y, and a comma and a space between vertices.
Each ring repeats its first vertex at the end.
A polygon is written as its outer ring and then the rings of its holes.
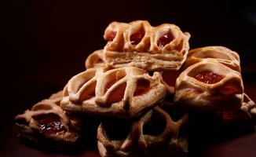
POLYGON ((75 144, 78 141, 81 122, 60 108, 63 93, 53 94, 49 99, 35 104, 31 110, 16 115, 19 137, 46 144, 54 148, 58 144, 75 144), (58 144, 57 144, 58 143, 58 144))

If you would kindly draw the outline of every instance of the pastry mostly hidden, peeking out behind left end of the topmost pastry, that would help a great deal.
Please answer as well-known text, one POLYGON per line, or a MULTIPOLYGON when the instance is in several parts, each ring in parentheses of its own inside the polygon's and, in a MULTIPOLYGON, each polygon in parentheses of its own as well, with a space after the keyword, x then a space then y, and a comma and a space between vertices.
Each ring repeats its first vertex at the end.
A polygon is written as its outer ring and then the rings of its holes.
POLYGON ((103 49, 99 49, 91 53, 86 58, 86 69, 103 68, 104 66, 106 66, 106 64, 104 63, 104 60, 102 59, 102 53, 103 53, 103 49))

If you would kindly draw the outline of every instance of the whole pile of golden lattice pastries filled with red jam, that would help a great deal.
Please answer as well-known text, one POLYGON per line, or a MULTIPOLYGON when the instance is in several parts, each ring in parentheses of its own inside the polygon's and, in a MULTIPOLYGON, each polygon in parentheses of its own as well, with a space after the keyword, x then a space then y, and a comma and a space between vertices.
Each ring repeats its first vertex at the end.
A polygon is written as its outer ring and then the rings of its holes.
POLYGON ((190 111, 254 116, 238 54, 220 46, 188 53, 189 38, 174 24, 112 22, 104 32, 107 45, 87 57, 86 71, 72 77, 58 97, 16 116, 20 137, 75 144, 84 124, 74 116, 89 115, 101 119, 101 156, 185 155, 190 111))

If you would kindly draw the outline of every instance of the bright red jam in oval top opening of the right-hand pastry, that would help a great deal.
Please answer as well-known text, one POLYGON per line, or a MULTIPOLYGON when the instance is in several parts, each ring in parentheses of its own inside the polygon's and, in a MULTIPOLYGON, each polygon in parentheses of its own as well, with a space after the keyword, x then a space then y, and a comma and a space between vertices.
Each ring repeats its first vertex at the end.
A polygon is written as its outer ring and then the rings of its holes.
POLYGON ((220 82, 223 78, 224 76, 215 74, 212 71, 203 71, 195 76, 195 79, 207 84, 214 84, 220 82))

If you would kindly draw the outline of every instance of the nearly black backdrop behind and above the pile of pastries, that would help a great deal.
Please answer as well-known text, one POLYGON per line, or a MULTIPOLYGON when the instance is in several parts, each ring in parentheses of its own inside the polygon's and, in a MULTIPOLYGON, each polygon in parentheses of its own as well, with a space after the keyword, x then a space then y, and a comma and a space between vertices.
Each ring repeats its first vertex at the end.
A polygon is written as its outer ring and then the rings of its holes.
POLYGON ((72 75, 83 71, 88 54, 105 45, 104 29, 113 20, 148 20, 153 26, 173 23, 192 35, 191 48, 226 46, 235 50, 240 53, 246 87, 254 84, 253 1, 9 0, 0 6, 0 153, 4 156, 15 152, 13 144, 19 147, 14 116, 62 89, 72 75))

